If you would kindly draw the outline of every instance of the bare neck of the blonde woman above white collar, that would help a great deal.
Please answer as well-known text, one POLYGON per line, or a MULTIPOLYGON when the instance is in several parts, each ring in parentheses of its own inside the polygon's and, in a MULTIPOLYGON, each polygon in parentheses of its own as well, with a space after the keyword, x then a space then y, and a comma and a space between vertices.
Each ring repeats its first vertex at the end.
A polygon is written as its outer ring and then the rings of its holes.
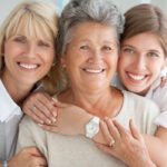
POLYGON ((14 80, 12 77, 6 75, 2 75, 1 80, 10 97, 18 105, 21 105, 22 100, 28 96, 28 94, 33 87, 32 85, 27 86, 24 84, 21 84, 14 80))

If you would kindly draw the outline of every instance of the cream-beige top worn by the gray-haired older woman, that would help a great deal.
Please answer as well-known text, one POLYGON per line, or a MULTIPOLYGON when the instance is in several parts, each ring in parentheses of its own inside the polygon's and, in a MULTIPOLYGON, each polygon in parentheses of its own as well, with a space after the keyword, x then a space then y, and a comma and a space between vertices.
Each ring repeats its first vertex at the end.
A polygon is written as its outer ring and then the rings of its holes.
MULTIPOLYGON (((129 128, 132 118, 140 132, 154 135, 156 125, 153 119, 159 108, 149 99, 124 91, 124 104, 114 119, 129 128)), ((126 167, 124 163, 98 149, 85 136, 63 136, 45 131, 26 116, 19 129, 17 151, 23 147, 37 146, 48 161, 48 167, 126 167)))

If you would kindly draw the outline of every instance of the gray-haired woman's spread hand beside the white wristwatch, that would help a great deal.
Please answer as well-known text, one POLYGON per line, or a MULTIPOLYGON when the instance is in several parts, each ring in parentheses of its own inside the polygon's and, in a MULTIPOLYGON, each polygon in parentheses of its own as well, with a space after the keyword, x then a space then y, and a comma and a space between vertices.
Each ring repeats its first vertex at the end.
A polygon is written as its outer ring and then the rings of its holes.
POLYGON ((129 130, 125 129, 116 120, 105 119, 100 122, 100 128, 107 143, 112 146, 105 146, 97 144, 104 151, 117 157, 129 167, 155 167, 150 160, 148 150, 146 148, 141 134, 137 130, 132 120, 129 121, 129 130))

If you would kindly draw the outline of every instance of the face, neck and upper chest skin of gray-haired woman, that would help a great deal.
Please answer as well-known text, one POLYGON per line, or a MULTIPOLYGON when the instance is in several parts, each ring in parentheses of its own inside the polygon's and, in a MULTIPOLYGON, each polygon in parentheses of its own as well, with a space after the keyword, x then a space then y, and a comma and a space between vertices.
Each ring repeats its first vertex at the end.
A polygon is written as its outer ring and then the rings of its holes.
POLYGON ((59 99, 100 118, 111 117, 122 104, 122 95, 110 87, 110 77, 115 73, 118 59, 116 32, 111 27, 91 22, 81 23, 73 31, 73 38, 61 58, 71 88, 62 92, 59 99), (118 99, 112 99, 112 96, 118 99), (108 108, 114 108, 115 112, 108 108))

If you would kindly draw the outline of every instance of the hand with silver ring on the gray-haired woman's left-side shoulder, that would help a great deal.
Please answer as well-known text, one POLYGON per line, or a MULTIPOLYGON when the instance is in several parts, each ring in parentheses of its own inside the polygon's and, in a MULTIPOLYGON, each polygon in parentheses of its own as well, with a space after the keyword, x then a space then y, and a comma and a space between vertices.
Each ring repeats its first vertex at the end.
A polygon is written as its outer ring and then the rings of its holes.
POLYGON ((57 108, 47 92, 33 92, 22 105, 22 110, 35 121, 50 125, 56 122, 57 108))

